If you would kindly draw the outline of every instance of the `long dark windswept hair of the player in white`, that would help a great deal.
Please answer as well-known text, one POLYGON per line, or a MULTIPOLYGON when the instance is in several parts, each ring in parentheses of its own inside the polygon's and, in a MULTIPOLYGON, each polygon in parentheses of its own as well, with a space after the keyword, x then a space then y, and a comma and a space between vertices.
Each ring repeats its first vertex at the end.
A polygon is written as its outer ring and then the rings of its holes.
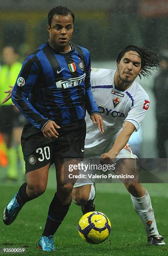
POLYGON ((161 60, 158 58, 158 55, 149 48, 142 48, 136 45, 130 44, 122 49, 117 57, 117 66, 121 59, 123 58, 124 54, 128 51, 136 51, 140 58, 141 58, 141 69, 142 72, 138 76, 141 77, 149 77, 153 74, 153 70, 158 69, 161 67, 161 60))

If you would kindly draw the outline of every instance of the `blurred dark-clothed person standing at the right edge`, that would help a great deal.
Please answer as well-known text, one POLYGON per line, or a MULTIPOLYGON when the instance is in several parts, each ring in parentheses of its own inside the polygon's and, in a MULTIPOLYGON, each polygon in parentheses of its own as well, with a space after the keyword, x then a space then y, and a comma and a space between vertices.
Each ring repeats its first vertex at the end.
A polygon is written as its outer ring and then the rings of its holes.
POLYGON ((153 92, 156 98, 157 151, 159 158, 167 158, 168 139, 168 50, 161 51, 162 67, 154 79, 153 92))

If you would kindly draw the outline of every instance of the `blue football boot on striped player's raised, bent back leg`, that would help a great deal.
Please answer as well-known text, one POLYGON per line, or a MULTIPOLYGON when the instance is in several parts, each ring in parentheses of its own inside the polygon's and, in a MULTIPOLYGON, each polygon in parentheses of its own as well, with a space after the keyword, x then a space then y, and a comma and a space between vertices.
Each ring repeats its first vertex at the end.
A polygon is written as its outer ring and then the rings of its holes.
POLYGON ((17 202, 16 195, 17 193, 14 195, 12 200, 10 200, 10 202, 8 203, 7 207, 5 207, 5 210, 3 212, 3 222, 5 223, 5 225, 10 225, 15 220, 15 218, 17 217, 17 214, 19 213, 19 211, 22 209, 22 206, 24 205, 24 204, 19 204, 17 202))

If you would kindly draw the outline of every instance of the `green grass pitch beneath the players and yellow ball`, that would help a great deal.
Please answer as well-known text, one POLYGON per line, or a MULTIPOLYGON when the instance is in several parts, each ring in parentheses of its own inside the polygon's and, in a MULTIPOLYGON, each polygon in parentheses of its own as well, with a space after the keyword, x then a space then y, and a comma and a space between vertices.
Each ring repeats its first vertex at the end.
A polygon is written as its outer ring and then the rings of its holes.
MULTIPOLYGON (((20 184, 0 185, 0 212, 12 198, 20 184)), ((168 184, 145 184, 152 195, 157 226, 168 244, 168 184), (148 186, 147 186, 148 185, 148 186)), ((0 248, 26 248, 26 253, 14 255, 42 255, 37 248, 44 228, 49 203, 54 195, 53 184, 39 198, 28 202, 10 226, 0 220, 0 248)), ((133 209, 130 195, 123 184, 97 184, 96 210, 104 212, 111 220, 109 238, 101 244, 84 242, 78 234, 78 221, 82 216, 80 207, 72 203, 70 210, 54 236, 57 251, 51 255, 67 256, 154 256, 168 255, 168 246, 148 246, 146 233, 138 215, 133 209)), ((11 255, 2 254, 2 255, 11 255)), ((48 254, 48 253, 47 253, 48 254)))

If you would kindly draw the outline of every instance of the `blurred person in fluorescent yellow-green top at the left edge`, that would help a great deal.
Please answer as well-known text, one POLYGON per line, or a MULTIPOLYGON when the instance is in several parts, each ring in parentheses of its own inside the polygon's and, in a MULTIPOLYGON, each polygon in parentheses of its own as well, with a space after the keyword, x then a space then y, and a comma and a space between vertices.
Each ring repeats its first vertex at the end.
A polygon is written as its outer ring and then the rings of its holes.
MULTIPOLYGON (((4 91, 8 89, 9 85, 14 85, 17 76, 20 72, 22 64, 17 61, 18 54, 13 46, 5 46, 2 49, 2 66, 0 69, 0 132, 4 138, 7 146, 8 169, 7 179, 17 179, 17 159, 20 156, 20 142, 16 138, 15 128, 13 128, 14 121, 17 122, 17 114, 15 107, 12 106, 12 101, 9 100, 2 104, 4 99, 4 91), (15 136, 13 136, 13 134, 15 136), (15 140, 15 138, 17 140, 15 140), (16 149, 17 144, 17 149, 16 149)), ((20 136, 20 134, 18 134, 20 136)), ((20 156, 21 159, 23 158, 20 156)), ((22 161, 22 160, 21 160, 22 161)))

